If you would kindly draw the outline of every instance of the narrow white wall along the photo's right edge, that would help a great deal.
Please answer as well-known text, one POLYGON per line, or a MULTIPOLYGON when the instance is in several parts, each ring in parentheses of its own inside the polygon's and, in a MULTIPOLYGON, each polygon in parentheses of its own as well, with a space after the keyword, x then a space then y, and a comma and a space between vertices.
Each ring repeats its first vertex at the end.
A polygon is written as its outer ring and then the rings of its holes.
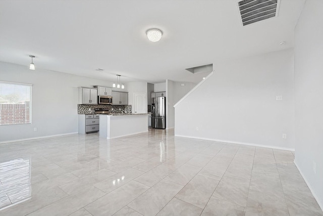
POLYGON ((322 9, 306 1, 295 28, 295 163, 323 209, 322 9))

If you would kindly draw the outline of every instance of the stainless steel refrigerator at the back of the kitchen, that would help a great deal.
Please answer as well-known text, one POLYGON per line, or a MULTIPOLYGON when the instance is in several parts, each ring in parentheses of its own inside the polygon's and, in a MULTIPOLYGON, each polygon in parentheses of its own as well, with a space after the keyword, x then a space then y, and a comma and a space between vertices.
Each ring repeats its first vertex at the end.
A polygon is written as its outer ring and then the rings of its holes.
POLYGON ((166 97, 152 98, 151 127, 166 128, 166 97))

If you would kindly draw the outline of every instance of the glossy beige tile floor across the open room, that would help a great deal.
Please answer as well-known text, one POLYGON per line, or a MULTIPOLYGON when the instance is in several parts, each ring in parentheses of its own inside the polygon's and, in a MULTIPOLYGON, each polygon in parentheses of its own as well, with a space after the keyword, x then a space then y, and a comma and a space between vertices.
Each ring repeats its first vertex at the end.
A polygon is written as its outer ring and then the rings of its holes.
POLYGON ((0 215, 323 215, 291 151, 174 137, 0 145, 0 215))

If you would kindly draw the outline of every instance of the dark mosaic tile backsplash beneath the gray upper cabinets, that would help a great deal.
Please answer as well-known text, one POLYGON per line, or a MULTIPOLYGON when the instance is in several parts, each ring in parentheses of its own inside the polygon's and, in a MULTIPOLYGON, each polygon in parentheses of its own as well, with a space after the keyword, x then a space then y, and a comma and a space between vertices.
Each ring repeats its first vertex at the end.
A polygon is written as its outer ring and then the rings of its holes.
POLYGON ((94 114, 95 108, 109 109, 111 113, 119 113, 119 108, 125 110, 127 113, 131 113, 131 105, 90 105, 90 104, 78 104, 77 113, 78 114, 94 114), (112 110, 113 108, 113 110, 112 110))

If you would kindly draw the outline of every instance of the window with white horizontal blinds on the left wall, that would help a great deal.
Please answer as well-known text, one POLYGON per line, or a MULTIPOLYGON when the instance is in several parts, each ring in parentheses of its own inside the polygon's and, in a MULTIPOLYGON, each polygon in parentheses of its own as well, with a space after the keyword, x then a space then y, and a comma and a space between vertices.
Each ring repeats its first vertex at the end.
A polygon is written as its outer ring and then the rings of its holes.
POLYGON ((31 84, 0 81, 0 125, 31 123, 31 84))

